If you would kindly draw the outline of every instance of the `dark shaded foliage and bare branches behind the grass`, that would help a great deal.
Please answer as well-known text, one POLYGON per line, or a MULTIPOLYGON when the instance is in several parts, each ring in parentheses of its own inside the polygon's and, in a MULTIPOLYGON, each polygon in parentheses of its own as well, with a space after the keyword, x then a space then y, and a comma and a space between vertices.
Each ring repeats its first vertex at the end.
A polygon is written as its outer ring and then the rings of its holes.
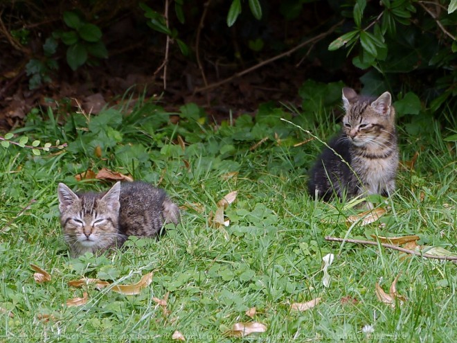
POLYGON ((427 130, 430 118, 455 130, 455 7, 454 0, 3 1, 0 121, 14 125, 48 98, 100 93, 110 101, 134 85, 215 116, 254 112, 268 100, 306 111, 314 90, 342 81, 365 94, 391 91, 411 130, 427 130))

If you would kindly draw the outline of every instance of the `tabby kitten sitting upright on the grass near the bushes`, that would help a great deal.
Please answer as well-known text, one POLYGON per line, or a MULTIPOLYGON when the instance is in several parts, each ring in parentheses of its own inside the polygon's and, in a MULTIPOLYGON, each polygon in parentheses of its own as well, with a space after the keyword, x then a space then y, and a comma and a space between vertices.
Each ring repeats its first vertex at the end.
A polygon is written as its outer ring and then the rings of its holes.
POLYGON ((341 134, 329 143, 334 151, 325 148, 311 170, 308 188, 312 196, 330 200, 345 193, 348 197, 393 193, 398 147, 391 101, 388 91, 368 98, 343 88, 346 115, 341 134))

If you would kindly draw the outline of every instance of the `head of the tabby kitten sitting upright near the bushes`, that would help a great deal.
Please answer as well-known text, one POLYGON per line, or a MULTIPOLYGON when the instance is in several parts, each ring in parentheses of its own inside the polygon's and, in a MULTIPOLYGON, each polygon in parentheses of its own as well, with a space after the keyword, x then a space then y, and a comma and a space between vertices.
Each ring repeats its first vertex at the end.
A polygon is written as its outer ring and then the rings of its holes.
POLYGON ((343 132, 355 146, 383 148, 395 139, 395 109, 388 91, 374 99, 345 87, 343 107, 343 132))

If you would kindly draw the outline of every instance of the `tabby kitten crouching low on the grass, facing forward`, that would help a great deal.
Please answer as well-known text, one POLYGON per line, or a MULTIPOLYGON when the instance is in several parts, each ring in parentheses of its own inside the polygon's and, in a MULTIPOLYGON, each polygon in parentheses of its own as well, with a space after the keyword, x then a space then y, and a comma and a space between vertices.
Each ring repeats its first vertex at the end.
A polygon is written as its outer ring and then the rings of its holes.
POLYGON ((117 182, 106 193, 82 194, 59 184, 57 193, 72 257, 120 247, 128 236, 156 236, 164 223, 178 223, 178 206, 145 182, 117 182))

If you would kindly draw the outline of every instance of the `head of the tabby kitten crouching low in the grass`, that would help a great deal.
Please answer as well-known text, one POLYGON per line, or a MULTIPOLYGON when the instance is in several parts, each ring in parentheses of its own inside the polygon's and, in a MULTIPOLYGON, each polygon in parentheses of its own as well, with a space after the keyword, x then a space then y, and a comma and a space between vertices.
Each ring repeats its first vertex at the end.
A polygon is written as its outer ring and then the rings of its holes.
POLYGON ((65 184, 57 188, 60 222, 72 256, 113 245, 118 236, 120 182, 105 195, 77 195, 65 184))

